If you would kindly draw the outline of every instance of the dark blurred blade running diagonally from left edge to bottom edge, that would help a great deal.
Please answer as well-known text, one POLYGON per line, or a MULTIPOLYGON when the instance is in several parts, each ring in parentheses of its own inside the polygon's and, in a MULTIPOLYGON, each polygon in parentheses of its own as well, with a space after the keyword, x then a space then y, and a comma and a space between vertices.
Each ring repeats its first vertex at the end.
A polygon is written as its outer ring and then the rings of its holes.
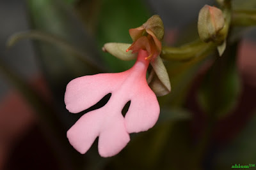
POLYGON ((42 125, 42 132, 44 133, 49 145, 54 151, 56 159, 59 161, 61 169, 74 169, 74 162, 70 162, 72 153, 68 149, 67 139, 65 139, 65 131, 63 125, 56 117, 56 111, 52 108, 50 102, 45 101, 26 81, 22 80, 17 74, 13 73, 3 60, 0 59, 0 71, 6 76, 10 82, 22 94, 24 99, 34 108, 36 117, 40 120, 42 125), (66 142, 66 143, 65 143, 66 142))

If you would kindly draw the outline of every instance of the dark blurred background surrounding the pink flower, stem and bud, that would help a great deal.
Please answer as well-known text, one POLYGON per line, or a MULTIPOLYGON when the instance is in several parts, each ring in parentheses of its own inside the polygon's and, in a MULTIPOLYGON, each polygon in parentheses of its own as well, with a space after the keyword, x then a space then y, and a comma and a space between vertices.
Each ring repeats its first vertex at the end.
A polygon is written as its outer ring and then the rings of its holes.
MULTIPOLYGON (((108 101, 71 114, 63 100, 67 83, 134 64, 102 52, 104 43, 132 43, 128 30, 158 14, 163 45, 179 48, 198 38, 198 12, 205 4, 218 6, 210 0, 1 0, 0 169, 255 166, 253 26, 232 25, 222 57, 213 49, 202 60, 164 60, 172 92, 158 97, 159 121, 147 132, 131 134, 115 157, 100 157, 97 141, 81 155, 66 138, 79 117, 108 101)), ((255 20, 255 0, 233 0, 232 6, 253 11, 255 20)))

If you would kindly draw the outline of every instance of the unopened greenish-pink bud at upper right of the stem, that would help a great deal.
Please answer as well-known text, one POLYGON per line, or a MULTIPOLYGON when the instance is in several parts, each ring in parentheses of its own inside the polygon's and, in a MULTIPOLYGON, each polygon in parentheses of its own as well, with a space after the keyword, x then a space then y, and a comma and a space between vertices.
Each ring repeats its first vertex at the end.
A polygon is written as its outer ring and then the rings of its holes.
POLYGON ((198 16, 198 34, 204 42, 214 41, 220 43, 225 39, 220 34, 225 25, 222 11, 214 6, 205 5, 198 16))

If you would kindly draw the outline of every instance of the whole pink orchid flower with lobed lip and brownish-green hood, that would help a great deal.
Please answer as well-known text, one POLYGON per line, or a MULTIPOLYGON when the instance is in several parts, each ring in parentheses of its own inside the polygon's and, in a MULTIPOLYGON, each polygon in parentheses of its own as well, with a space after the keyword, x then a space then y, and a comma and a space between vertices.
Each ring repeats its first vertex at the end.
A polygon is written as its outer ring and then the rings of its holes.
MULTIPOLYGON (((105 106, 84 114, 68 130, 67 138, 70 144, 80 153, 86 153, 99 136, 99 154, 102 157, 116 155, 130 141, 130 133, 147 131, 157 122, 160 108, 156 94, 148 86, 146 73, 148 64, 152 64, 152 62, 154 62, 153 67, 161 67, 161 69, 156 69, 159 70, 156 73, 166 72, 165 67, 164 69, 162 67, 163 62, 159 62, 160 57, 156 57, 156 54, 159 55, 161 52, 158 49, 159 45, 161 47, 161 41, 156 38, 154 31, 147 31, 150 33, 143 36, 143 29, 141 27, 139 29, 136 32, 135 43, 131 45, 131 48, 126 52, 124 49, 121 50, 125 52, 122 55, 125 60, 137 58, 131 69, 122 73, 82 76, 70 81, 67 85, 65 104, 71 113, 86 110, 100 101, 102 97, 111 93, 105 106), (157 39, 156 44, 153 39, 157 39), (133 53, 127 52, 129 50, 133 50, 133 53), (134 52, 138 53, 135 55, 134 52), (131 104, 124 117, 122 110, 129 101, 131 104)), ((116 47, 116 44, 111 43, 104 47, 112 51, 110 53, 115 53, 117 48, 112 48, 113 46, 116 47)), ((119 44, 117 46, 120 47, 119 44)), ((122 44, 121 46, 127 47, 127 45, 122 44)), ((160 77, 159 79, 163 78, 160 77)), ((167 81, 170 86, 169 79, 167 81)), ((159 81, 157 83, 159 84, 159 81)), ((169 86, 167 85, 167 89, 170 92, 169 86)), ((163 95, 163 92, 161 94, 163 95)), ((165 91, 164 94, 166 94, 165 91)))

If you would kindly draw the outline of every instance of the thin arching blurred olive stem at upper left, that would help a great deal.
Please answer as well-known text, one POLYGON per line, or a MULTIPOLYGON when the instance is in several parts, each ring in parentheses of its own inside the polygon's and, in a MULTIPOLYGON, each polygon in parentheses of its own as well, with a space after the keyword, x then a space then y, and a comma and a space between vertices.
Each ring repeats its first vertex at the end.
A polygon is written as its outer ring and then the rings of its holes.
MULTIPOLYGON (((63 50, 66 50, 68 53, 73 54, 77 59, 81 60, 84 64, 87 66, 92 67, 93 69, 96 69, 99 72, 106 72, 107 69, 103 66, 99 66, 97 62, 90 59, 88 55, 84 54, 84 52, 72 44, 68 43, 63 38, 60 38, 58 36, 55 36, 53 34, 49 34, 42 31, 26 31, 26 32, 17 32, 16 34, 13 34, 7 41, 6 46, 10 48, 11 46, 15 45, 18 41, 22 39, 36 39, 40 41, 45 41, 47 43, 52 43, 54 45, 60 46, 63 50)), ((71 55, 70 55, 71 56, 71 55)))

